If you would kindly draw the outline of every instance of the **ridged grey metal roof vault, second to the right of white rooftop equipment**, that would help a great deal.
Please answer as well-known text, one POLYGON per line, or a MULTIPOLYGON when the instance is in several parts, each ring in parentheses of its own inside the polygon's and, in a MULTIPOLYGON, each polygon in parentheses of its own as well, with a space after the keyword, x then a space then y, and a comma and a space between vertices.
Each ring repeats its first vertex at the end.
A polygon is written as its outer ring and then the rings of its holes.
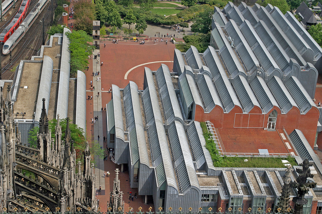
POLYGON ((270 51, 266 48, 263 41, 260 39, 260 36, 257 34, 251 23, 248 20, 245 20, 240 25, 240 29, 266 73, 270 75, 274 71, 277 71, 282 76, 282 71, 278 64, 270 54, 270 51))

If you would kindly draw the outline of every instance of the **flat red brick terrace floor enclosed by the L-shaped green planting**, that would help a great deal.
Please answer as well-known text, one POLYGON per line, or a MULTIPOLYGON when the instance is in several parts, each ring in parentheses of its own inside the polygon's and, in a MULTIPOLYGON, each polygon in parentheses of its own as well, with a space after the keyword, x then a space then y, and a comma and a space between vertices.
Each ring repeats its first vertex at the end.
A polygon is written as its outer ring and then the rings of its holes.
MULTIPOLYGON (((263 129, 218 129, 227 153, 289 153, 277 131, 263 129)), ((293 150, 292 150, 293 151, 293 150)))

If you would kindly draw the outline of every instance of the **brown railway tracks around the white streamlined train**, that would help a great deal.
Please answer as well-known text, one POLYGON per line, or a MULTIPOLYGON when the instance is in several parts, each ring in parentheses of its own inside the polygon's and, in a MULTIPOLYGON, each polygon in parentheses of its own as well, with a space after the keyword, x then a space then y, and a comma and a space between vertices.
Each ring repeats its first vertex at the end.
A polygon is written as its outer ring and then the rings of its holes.
MULTIPOLYGON (((29 8, 31 9, 34 7, 37 1, 32 1, 32 2, 34 2, 34 4, 30 5, 29 8)), ((12 66, 24 57, 26 49, 31 48, 31 43, 35 44, 34 48, 31 49, 32 50, 31 56, 35 55, 37 51, 40 49, 42 45, 42 43, 40 42, 40 40, 42 40, 42 22, 39 22, 39 21, 42 20, 42 18, 44 18, 45 20, 44 28, 46 31, 46 29, 50 26, 50 17, 51 17, 50 11, 51 11, 51 4, 47 4, 46 8, 42 11, 42 13, 40 13, 36 21, 30 27, 32 29, 29 29, 29 31, 27 31, 27 33, 24 35, 24 43, 20 42, 20 44, 18 44, 15 47, 15 51, 13 56, 11 57, 11 60, 10 59, 5 60, 9 62, 2 67, 1 77, 6 75, 12 69, 12 66)), ((29 59, 31 59, 31 56, 29 57, 29 59)), ((7 56, 7 59, 8 57, 9 56, 7 56)), ((6 58, 6 56, 1 53, 1 58, 6 58)))

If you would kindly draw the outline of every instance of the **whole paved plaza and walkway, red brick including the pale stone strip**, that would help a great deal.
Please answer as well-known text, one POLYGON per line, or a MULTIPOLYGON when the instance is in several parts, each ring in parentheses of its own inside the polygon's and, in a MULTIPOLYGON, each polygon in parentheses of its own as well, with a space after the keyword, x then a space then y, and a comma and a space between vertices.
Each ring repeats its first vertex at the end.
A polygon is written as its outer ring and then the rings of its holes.
MULTIPOLYGON (((94 140, 98 140, 99 144, 106 151, 106 143, 103 142, 103 137, 107 136, 106 130, 106 112, 101 112, 101 107, 106 107, 106 104, 111 100, 111 93, 108 93, 109 87, 112 84, 124 88, 129 81, 134 81, 138 87, 143 89, 144 67, 149 67, 151 70, 156 70, 161 63, 166 64, 170 70, 173 67, 173 55, 175 45, 168 42, 154 44, 153 41, 147 41, 144 45, 140 45, 133 41, 120 41, 118 44, 113 44, 111 41, 101 43, 100 49, 94 53, 100 52, 100 57, 89 60, 89 70, 85 71, 87 79, 87 96, 93 96, 92 100, 87 100, 86 104, 86 131, 88 136, 92 136, 94 140), (100 63, 103 61, 103 66, 100 63), (101 81, 96 80, 93 76, 93 71, 99 71, 101 81), (90 90, 90 80, 93 81, 95 91, 90 90), (99 96, 98 93, 99 92, 99 96), (91 118, 99 117, 95 124, 91 124, 91 118)), ((107 154, 107 153, 106 153, 107 154)), ((107 211, 107 202, 109 201, 109 192, 113 190, 113 179, 115 178, 114 170, 120 165, 116 165, 110 160, 99 160, 95 158, 97 166, 95 167, 95 174, 97 175, 96 187, 102 187, 101 192, 97 196, 99 199, 99 206, 102 207, 103 212, 107 211), (104 178, 104 171, 111 173, 109 178, 104 178)), ((127 168, 127 167, 126 167, 127 168)), ((148 207, 153 207, 152 203, 144 205, 144 196, 138 196, 134 201, 128 200, 129 192, 137 192, 137 189, 130 188, 128 171, 120 172, 119 179, 121 182, 121 191, 123 191, 123 199, 125 202, 125 211, 128 207, 133 207, 134 211, 138 211, 138 207, 143 210, 148 210, 148 207)))

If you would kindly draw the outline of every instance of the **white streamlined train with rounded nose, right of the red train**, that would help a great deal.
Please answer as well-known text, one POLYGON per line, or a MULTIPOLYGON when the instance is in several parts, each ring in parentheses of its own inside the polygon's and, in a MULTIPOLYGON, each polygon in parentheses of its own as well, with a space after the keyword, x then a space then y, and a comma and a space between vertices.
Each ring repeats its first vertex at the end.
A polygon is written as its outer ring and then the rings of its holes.
POLYGON ((18 44, 18 42, 24 37, 24 34, 29 30, 30 26, 37 19, 38 15, 43 11, 45 6, 50 0, 39 0, 38 3, 33 7, 30 13, 24 19, 24 22, 20 24, 18 29, 10 36, 5 42, 2 53, 7 55, 12 49, 18 44))

